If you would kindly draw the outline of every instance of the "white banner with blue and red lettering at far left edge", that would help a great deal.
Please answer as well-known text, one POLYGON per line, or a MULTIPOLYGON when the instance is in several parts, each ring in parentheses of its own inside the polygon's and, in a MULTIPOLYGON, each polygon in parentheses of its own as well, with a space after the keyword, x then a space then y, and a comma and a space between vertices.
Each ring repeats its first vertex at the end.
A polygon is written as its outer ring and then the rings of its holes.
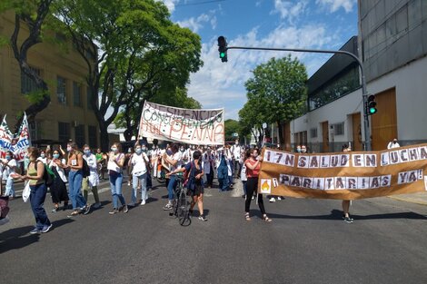
POLYGON ((25 151, 31 145, 26 114, 24 114, 23 122, 15 134, 10 131, 5 119, 6 115, 0 124, 0 159, 5 159, 6 152, 10 151, 14 153, 16 161, 24 161, 25 151))

